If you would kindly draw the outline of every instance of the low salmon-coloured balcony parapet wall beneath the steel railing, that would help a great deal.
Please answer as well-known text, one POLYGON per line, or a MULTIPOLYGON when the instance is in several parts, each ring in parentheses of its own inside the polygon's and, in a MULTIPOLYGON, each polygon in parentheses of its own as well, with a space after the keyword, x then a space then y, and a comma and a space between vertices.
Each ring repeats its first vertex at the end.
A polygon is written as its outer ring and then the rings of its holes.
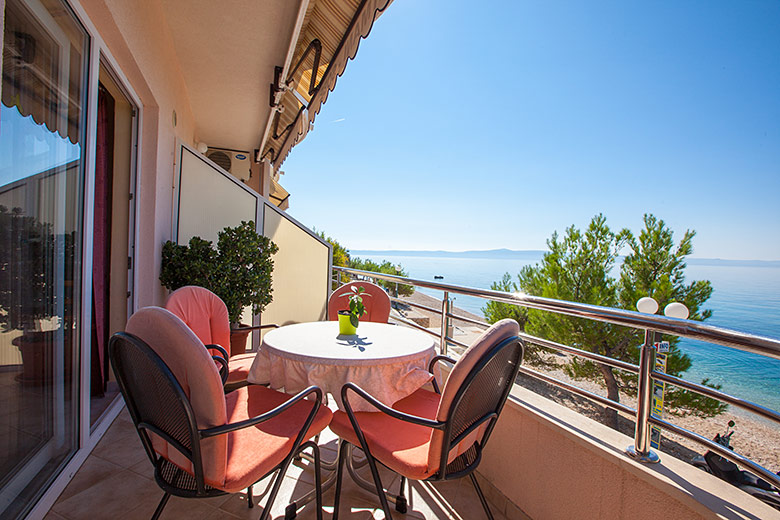
POLYGON ((509 520, 777 518, 734 486, 661 454, 640 464, 633 439, 515 387, 479 467, 509 520))

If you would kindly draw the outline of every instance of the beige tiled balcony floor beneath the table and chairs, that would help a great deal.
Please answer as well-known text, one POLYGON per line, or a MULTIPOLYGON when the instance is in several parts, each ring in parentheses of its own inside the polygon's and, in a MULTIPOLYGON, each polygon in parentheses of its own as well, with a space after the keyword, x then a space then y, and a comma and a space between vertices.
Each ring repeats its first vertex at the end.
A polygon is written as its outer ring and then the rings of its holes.
MULTIPOLYGON (((320 439, 322 457, 335 460, 337 439, 326 430, 320 439), (323 446, 324 445, 324 446, 323 446)), ((358 454, 360 457, 360 454, 358 454)), ((313 489, 312 464, 305 461, 294 463, 286 473, 282 489, 272 508, 272 518, 284 518, 284 510, 291 497, 300 497, 313 489)), ((382 483, 393 493, 398 492, 398 476, 387 468, 379 466, 382 483)), ((323 470, 323 479, 332 472, 323 470)), ((371 482, 368 466, 358 470, 371 482)), ((254 486, 255 507, 247 507, 245 493, 236 493, 210 499, 183 499, 172 497, 163 519, 183 518, 185 520, 257 520, 262 513, 261 504, 267 500, 270 491, 270 477, 254 486)), ((469 479, 443 483, 412 484, 406 486, 409 512, 397 513, 391 504, 396 520, 483 520, 484 511, 469 479)), ((95 448, 94 452, 76 474, 60 499, 46 517, 48 520, 123 520, 148 519, 162 497, 162 490, 154 482, 151 463, 143 451, 138 435, 123 411, 95 448)), ((333 513, 335 485, 324 493, 324 518, 333 513)), ((512 511, 515 513, 515 511, 512 511)), ((497 520, 506 520, 496 508, 497 520)), ((315 520, 314 502, 298 511, 301 520, 315 520)), ((376 494, 359 487, 345 474, 341 497, 340 518, 346 520, 371 520, 384 518, 376 494)), ((523 518, 512 515, 512 518, 523 518)))

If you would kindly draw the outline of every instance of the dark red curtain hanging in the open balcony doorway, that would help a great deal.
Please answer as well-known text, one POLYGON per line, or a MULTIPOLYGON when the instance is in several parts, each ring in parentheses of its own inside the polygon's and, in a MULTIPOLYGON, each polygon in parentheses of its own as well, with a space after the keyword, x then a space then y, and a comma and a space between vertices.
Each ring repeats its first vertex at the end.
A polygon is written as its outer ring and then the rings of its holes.
POLYGON ((102 396, 108 382, 109 278, 111 269, 111 195, 114 169, 114 98, 98 90, 95 156, 95 225, 92 249, 91 389, 102 396))

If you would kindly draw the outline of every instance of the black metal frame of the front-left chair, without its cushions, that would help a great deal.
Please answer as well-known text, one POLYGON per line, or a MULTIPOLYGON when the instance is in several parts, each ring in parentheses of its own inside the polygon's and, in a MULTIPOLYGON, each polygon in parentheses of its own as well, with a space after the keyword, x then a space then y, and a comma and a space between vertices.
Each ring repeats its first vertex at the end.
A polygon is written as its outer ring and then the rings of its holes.
MULTIPOLYGON (((114 374, 116 375, 117 378, 117 383, 125 399, 125 403, 127 404, 127 409, 130 413, 133 423, 136 426, 138 435, 141 438, 141 443, 143 444, 144 449, 146 450, 146 454, 148 455, 149 459, 154 465, 155 481, 164 492, 164 495, 160 500, 157 509, 155 510, 152 516, 152 520, 156 520, 157 518, 159 518, 159 516, 162 514, 163 509, 168 503, 168 500, 171 497, 171 495, 185 497, 185 498, 206 498, 206 497, 228 494, 225 491, 211 487, 205 483, 204 475, 203 475, 203 461, 201 458, 201 449, 200 449, 201 440, 210 437, 215 437, 218 435, 224 435, 232 431, 240 430, 242 428, 249 428, 261 424, 263 422, 266 422, 284 413, 296 403, 305 400, 307 397, 310 396, 314 397, 314 399, 307 400, 312 404, 311 411, 309 412, 309 415, 307 416, 306 421, 300 430, 300 433, 296 437, 293 447, 290 450, 290 453, 285 457, 285 459, 281 463, 279 463, 276 467, 274 467, 272 470, 270 470, 268 473, 266 473, 265 475, 263 475, 263 477, 260 478, 260 480, 262 480, 263 478, 267 477, 268 475, 276 471, 279 472, 279 474, 276 476, 276 478, 273 481, 273 485, 268 500, 266 501, 266 505, 263 510, 263 513, 260 516, 260 520, 266 520, 267 518, 269 518, 269 515, 271 513, 271 507, 273 505, 274 500, 276 499, 276 495, 279 493, 282 480, 284 479, 284 475, 287 472, 287 469, 290 463, 292 462, 293 458, 299 455, 300 453, 302 453, 304 450, 309 448, 312 449, 313 456, 314 456, 317 519, 322 520, 322 477, 320 471, 321 461, 320 461, 319 447, 317 446, 316 443, 312 441, 303 442, 306 433, 308 432, 309 428, 314 422, 314 418, 322 403, 322 390, 319 387, 310 386, 309 388, 302 390, 301 392, 291 397, 290 399, 288 399, 281 405, 277 406, 276 408, 269 410, 264 414, 252 417, 250 419, 240 421, 237 423, 226 424, 223 426, 217 426, 214 428, 198 429, 197 423, 195 421, 195 414, 192 410, 192 406, 190 405, 189 399, 187 395, 184 393, 184 390, 182 389, 181 385, 176 380, 176 377, 173 375, 168 365, 165 364, 163 359, 154 350, 152 350, 152 348, 149 347, 143 340, 127 332, 118 332, 114 334, 111 337, 111 340, 109 341, 109 357, 111 360, 112 368, 114 370, 114 374), (171 394, 173 394, 173 396, 175 396, 173 399, 174 403, 172 403, 172 405, 178 407, 180 409, 179 411, 183 413, 184 416, 186 417, 186 420, 184 421, 186 422, 186 424, 177 425, 183 429, 183 432, 179 432, 179 433, 180 434, 183 433, 185 435, 185 437, 191 444, 190 448, 188 448, 187 446, 182 444, 182 442, 174 438, 168 431, 165 431, 163 428, 158 427, 158 425, 143 420, 144 414, 142 413, 141 409, 139 409, 138 403, 136 402, 136 398, 132 390, 130 390, 129 388, 130 385, 128 384, 127 377, 132 376, 133 370, 139 370, 139 369, 143 370, 144 368, 137 367, 137 366, 136 367, 124 366, 124 360, 122 359, 122 355, 118 353, 118 349, 121 348, 119 345, 122 342, 130 344, 132 348, 134 348, 136 352, 145 359, 146 363, 148 363, 148 367, 151 367, 153 370, 157 370, 162 375, 162 380, 155 381, 155 383, 158 385, 155 391, 160 391, 160 390, 168 391, 171 394), (161 386, 162 387, 167 386, 167 388, 161 388, 161 386), (194 475, 191 475, 190 473, 180 469, 178 466, 174 465, 173 463, 169 462, 162 456, 158 455, 154 451, 152 440, 149 437, 149 432, 152 432, 155 435, 159 436, 170 446, 173 446, 182 455, 187 457, 187 459, 189 459, 192 464, 194 475)), ((218 358, 219 356, 214 356, 214 357, 218 358)), ((253 497, 252 497, 252 486, 249 486, 247 491, 248 491, 247 502, 248 502, 248 506, 251 508, 254 505, 253 497)), ((295 518, 296 509, 297 507, 295 502, 292 502, 290 505, 288 505, 287 509, 285 510, 285 519, 295 518)))

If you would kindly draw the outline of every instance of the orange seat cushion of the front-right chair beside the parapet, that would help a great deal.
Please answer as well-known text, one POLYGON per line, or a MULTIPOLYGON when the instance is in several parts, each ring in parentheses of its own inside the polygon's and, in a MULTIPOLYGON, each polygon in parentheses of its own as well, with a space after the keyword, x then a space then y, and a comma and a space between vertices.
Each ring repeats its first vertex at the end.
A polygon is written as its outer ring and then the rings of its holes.
MULTIPOLYGON (((360 399, 350 393, 350 399, 360 399)), ((419 389, 401 399, 393 408, 418 417, 434 419, 439 408, 439 394, 419 389)), ((410 479, 424 480, 439 469, 428 465, 432 428, 394 419, 381 412, 357 412, 360 429, 371 454, 385 466, 410 479)), ((360 446, 349 417, 342 411, 333 415, 330 429, 355 446, 360 446)))

